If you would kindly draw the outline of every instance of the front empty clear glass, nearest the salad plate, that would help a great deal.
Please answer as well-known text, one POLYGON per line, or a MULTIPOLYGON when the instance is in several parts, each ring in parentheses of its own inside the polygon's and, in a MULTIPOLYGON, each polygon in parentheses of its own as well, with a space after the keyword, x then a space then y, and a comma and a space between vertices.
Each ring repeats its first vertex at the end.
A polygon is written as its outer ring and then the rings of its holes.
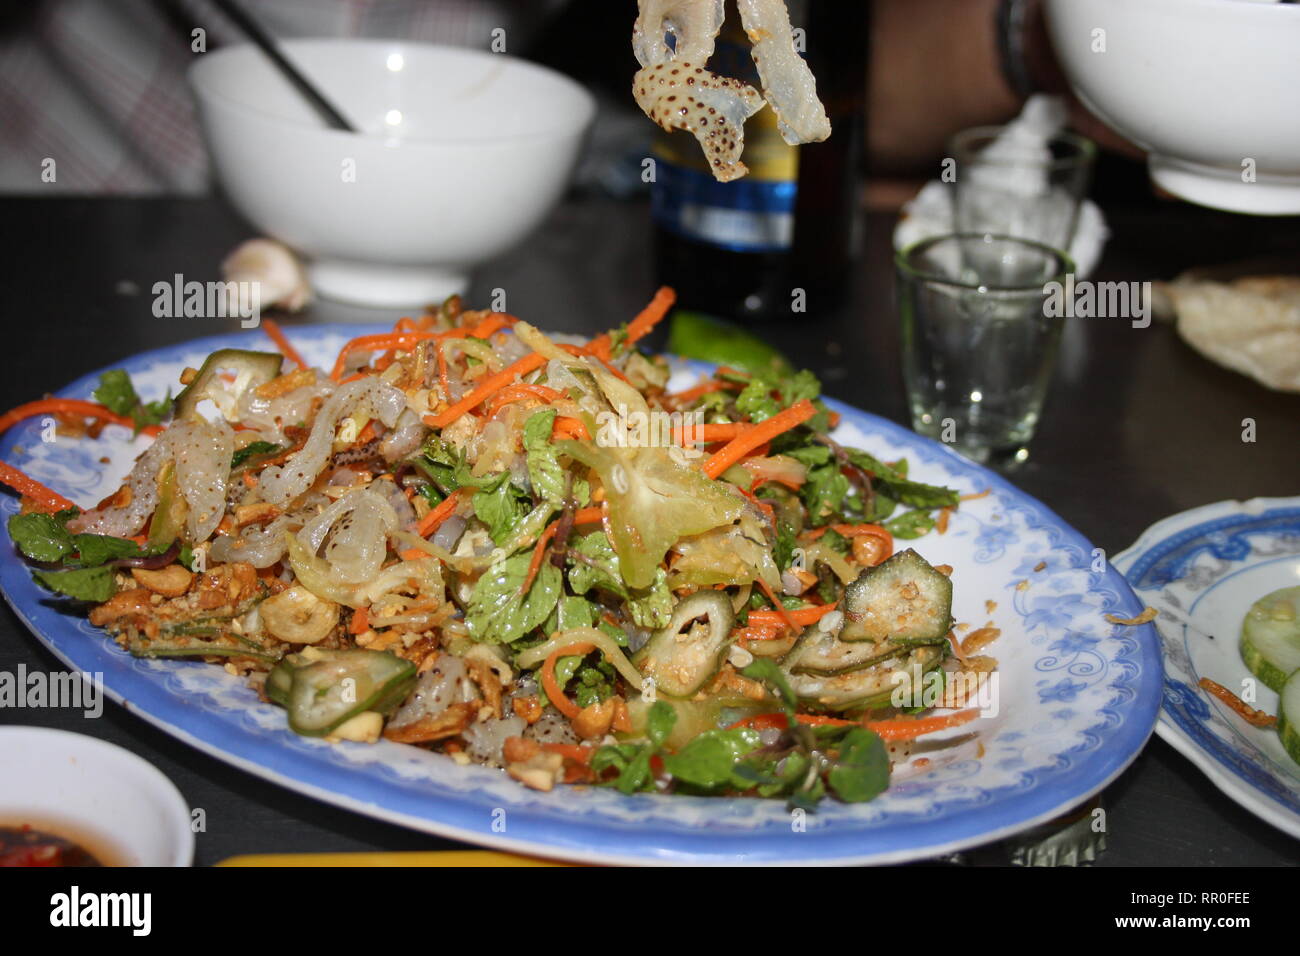
POLYGON ((1046 315, 1049 284, 1063 285, 1070 258, 957 234, 922 239, 894 263, 911 427, 978 462, 1023 462, 1065 321, 1046 315))

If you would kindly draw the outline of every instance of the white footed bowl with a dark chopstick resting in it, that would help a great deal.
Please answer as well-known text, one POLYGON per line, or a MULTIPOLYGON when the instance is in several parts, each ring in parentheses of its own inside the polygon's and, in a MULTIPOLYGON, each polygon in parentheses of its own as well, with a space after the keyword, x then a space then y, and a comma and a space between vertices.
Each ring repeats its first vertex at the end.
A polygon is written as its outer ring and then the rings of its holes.
POLYGON ((235 207, 303 254, 317 293, 419 306, 526 237, 568 183, 595 103, 503 53, 390 40, 290 40, 285 53, 361 130, 328 129, 251 46, 190 69, 235 207))

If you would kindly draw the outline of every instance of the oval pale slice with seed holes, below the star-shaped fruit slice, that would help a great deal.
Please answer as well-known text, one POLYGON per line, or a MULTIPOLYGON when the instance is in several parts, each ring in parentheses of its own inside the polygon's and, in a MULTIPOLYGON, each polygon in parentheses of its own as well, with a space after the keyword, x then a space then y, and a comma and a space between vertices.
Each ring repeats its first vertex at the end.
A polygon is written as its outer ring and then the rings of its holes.
POLYGON ((732 643, 736 613, 722 591, 699 591, 672 611, 632 658, 642 676, 654 679, 664 697, 690 697, 718 669, 732 643))

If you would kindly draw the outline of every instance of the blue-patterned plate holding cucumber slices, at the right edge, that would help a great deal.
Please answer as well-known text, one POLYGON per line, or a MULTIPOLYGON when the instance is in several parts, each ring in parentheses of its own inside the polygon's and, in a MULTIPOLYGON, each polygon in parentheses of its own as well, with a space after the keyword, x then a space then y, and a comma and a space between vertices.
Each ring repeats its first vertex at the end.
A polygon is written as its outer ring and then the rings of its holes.
POLYGON ((1300 498, 1183 511, 1143 532, 1114 564, 1160 611, 1165 688, 1156 732, 1242 806, 1300 838, 1300 765, 1277 731, 1251 726, 1200 687, 1209 678, 1278 713, 1278 695, 1251 674, 1239 643, 1252 604, 1300 584, 1300 498))

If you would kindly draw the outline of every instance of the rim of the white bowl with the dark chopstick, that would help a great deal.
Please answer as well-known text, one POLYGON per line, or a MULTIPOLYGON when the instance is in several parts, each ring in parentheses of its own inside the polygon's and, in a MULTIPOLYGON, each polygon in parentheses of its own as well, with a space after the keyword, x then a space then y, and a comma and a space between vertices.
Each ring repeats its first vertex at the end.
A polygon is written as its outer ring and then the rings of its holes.
MULTIPOLYGON (((543 66, 542 64, 533 62, 532 60, 524 60, 519 56, 510 56, 507 53, 486 53, 481 49, 474 49, 472 47, 458 47, 450 43, 422 43, 419 40, 404 40, 404 39, 376 39, 376 38, 348 38, 348 36, 318 36, 318 38, 300 38, 281 40, 280 46, 292 53, 295 49, 302 49, 307 47, 350 47, 350 48, 369 48, 380 47, 389 52, 402 52, 417 51, 417 52, 441 52, 441 53, 454 53, 458 56, 465 56, 473 60, 484 60, 491 57, 494 60, 507 60, 514 66, 520 66, 525 70, 533 72, 537 75, 543 75, 549 79, 559 82, 560 86, 568 87, 568 90, 576 94, 581 101, 581 108, 576 111, 572 117, 566 117, 562 124, 558 124, 554 129, 545 129, 537 133, 490 133, 485 135, 473 137, 448 137, 446 139, 385 139, 374 134, 368 133, 350 133, 347 130, 337 130, 330 126, 317 126, 315 124, 300 122, 278 113, 272 113, 257 107, 250 107, 247 103, 238 100, 233 96, 226 95, 221 90, 216 88, 217 83, 203 74, 211 73, 216 66, 209 66, 207 64, 214 60, 225 60, 230 56, 237 56, 240 53, 247 53, 250 51, 256 51, 252 43, 231 43, 229 46, 222 46, 220 49, 214 49, 211 53, 203 53, 195 62, 190 64, 186 70, 186 81, 190 85, 191 91, 196 99, 211 100, 214 104, 220 104, 228 109, 237 113, 242 113, 250 118, 259 118, 264 121, 270 121, 273 124, 296 129, 308 133, 316 133, 321 135, 342 137, 347 139, 364 139, 376 146, 384 146, 386 148, 421 148, 421 147, 477 147, 477 146, 493 146, 514 142, 526 142, 530 139, 551 139, 563 138, 581 133, 592 122, 595 116, 595 98, 592 95, 586 87, 578 83, 572 77, 568 77, 559 70, 554 70, 550 66, 543 66)), ((295 64, 296 65, 296 64, 295 64)), ((272 70, 276 68, 269 65, 272 70)))

